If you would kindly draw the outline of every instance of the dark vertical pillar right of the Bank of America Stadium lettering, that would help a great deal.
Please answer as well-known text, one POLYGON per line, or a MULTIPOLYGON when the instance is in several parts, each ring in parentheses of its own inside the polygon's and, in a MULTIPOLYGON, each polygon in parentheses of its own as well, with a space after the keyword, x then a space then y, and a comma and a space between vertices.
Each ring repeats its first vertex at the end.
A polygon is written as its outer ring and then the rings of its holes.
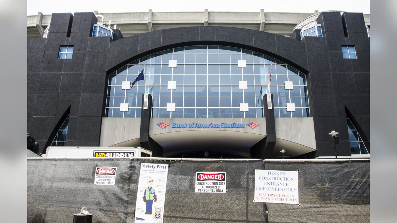
POLYGON ((262 151, 263 158, 272 158, 274 145, 276 144, 276 123, 274 122, 274 107, 273 107, 273 94, 270 94, 272 98, 272 109, 268 109, 268 97, 267 94, 263 96, 263 112, 266 117, 266 142, 264 150, 262 151))

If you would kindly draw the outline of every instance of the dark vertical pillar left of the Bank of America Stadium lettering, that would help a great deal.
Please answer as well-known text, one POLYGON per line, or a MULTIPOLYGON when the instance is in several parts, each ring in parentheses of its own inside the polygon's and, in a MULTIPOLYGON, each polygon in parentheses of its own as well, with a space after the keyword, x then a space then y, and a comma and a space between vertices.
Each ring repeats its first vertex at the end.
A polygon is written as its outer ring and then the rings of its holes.
POLYGON ((141 146, 152 151, 152 157, 162 157, 163 149, 149 136, 150 118, 152 117, 152 95, 148 95, 148 109, 143 109, 145 94, 142 94, 142 112, 141 112, 141 146))

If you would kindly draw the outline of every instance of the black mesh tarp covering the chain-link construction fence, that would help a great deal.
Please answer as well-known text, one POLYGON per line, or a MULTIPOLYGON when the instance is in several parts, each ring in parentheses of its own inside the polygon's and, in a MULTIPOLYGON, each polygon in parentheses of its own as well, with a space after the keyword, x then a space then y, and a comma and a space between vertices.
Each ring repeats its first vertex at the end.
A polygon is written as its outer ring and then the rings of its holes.
POLYGON ((164 223, 369 222, 369 161, 158 161, 28 159, 28 223, 134 222, 141 163, 168 164, 164 223), (96 166, 117 167, 116 185, 94 185, 96 166), (299 202, 257 203, 255 169, 299 170, 299 202), (226 193, 195 193, 195 172, 225 171, 226 193))

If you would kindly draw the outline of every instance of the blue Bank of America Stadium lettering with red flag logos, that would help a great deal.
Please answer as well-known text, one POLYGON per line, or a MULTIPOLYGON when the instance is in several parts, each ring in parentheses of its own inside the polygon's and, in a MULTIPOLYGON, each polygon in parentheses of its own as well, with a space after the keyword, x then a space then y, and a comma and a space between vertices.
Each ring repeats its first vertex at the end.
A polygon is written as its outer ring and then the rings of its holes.
MULTIPOLYGON (((220 128, 220 129, 225 129, 225 128, 244 128, 245 125, 242 123, 226 123, 226 122, 221 122, 221 123, 198 123, 198 122, 192 122, 192 123, 176 123, 173 122, 171 124, 166 123, 164 121, 161 121, 157 124, 160 128, 164 129, 165 127, 167 127, 168 125, 170 125, 172 128, 189 128, 189 129, 193 129, 193 128, 204 128, 204 129, 211 129, 211 128, 220 128)), ((250 128, 255 128, 256 126, 258 126, 259 124, 256 122, 250 122, 247 124, 250 128)))

